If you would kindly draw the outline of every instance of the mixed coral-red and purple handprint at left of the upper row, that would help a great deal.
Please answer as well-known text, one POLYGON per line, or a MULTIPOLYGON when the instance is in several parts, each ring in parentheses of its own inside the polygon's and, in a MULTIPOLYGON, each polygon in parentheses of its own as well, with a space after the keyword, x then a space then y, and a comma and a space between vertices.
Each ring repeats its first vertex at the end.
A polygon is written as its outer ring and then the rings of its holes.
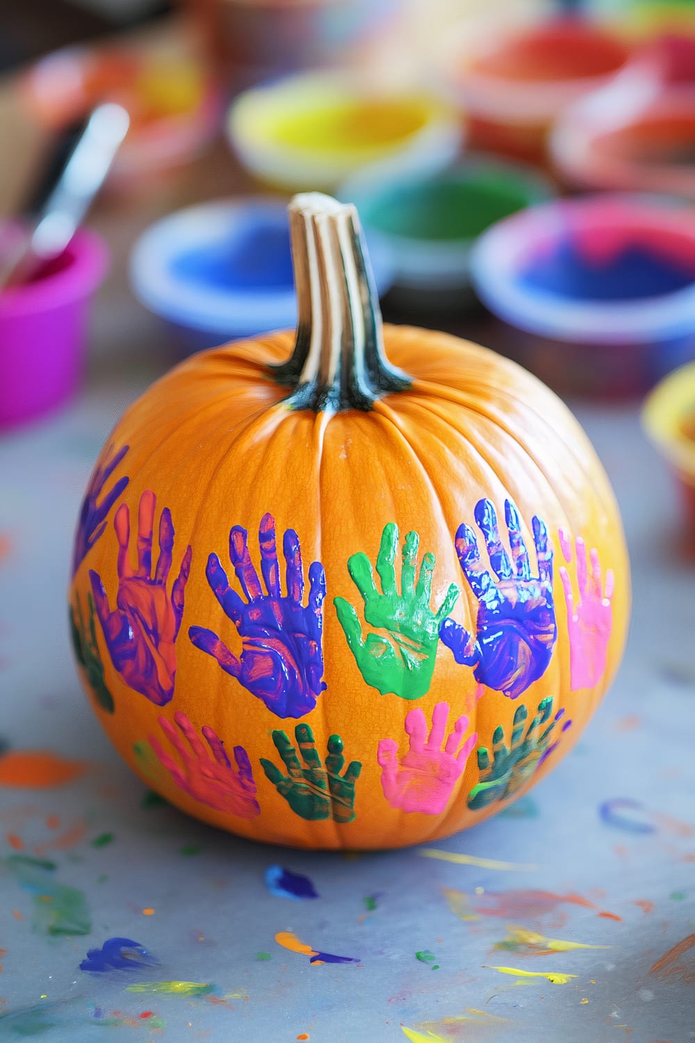
POLYGON ((111 612, 101 577, 90 569, 94 602, 114 666, 135 692, 165 706, 174 695, 176 637, 183 615, 183 593, 191 571, 191 548, 167 591, 174 550, 174 526, 168 507, 159 518, 159 557, 152 573, 152 527, 156 499, 147 490, 138 512, 138 567, 128 554, 130 512, 121 504, 114 528, 119 543, 117 608, 111 612))

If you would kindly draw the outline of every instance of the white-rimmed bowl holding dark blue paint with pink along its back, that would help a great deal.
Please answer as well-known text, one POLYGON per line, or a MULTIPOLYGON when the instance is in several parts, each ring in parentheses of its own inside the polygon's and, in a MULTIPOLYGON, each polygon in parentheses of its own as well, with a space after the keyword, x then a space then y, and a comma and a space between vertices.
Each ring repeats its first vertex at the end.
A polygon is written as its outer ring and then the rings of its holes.
POLYGON ((561 393, 643 393, 695 358, 695 213, 644 196, 531 208, 472 251, 503 349, 561 393))

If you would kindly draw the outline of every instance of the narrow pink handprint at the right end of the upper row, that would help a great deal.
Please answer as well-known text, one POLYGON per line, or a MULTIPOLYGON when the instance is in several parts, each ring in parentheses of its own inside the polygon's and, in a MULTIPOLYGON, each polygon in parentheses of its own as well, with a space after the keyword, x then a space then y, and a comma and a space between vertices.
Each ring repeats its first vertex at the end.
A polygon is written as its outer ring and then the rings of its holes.
MULTIPOLYGON (((569 564, 572 561, 572 544, 562 529, 559 536, 563 557, 569 564)), ((601 590, 601 564, 598 560, 598 551, 592 549, 590 552, 590 573, 587 567, 587 548, 581 536, 577 536, 575 548, 579 588, 579 600, 576 604, 570 575, 564 565, 560 569, 567 606, 572 692, 593 688, 603 676, 613 629, 611 599, 615 586, 613 569, 609 568, 605 573, 605 588, 601 590)))

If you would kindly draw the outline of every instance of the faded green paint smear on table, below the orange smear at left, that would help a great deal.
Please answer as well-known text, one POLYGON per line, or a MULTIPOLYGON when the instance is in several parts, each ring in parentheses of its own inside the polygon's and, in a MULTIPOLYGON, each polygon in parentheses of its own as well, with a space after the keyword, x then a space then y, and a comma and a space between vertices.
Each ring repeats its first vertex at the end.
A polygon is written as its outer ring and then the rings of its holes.
POLYGON ((89 935, 92 917, 81 891, 53 877, 55 863, 14 854, 5 865, 33 899, 32 928, 48 935, 89 935))

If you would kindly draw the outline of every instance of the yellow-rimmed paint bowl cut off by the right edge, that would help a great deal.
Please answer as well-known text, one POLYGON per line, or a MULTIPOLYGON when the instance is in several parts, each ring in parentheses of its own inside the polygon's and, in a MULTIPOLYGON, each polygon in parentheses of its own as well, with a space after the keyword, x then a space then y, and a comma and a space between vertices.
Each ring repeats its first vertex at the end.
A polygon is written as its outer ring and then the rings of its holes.
POLYGON ((695 533, 695 363, 656 385, 644 404, 642 422, 675 477, 695 533))

